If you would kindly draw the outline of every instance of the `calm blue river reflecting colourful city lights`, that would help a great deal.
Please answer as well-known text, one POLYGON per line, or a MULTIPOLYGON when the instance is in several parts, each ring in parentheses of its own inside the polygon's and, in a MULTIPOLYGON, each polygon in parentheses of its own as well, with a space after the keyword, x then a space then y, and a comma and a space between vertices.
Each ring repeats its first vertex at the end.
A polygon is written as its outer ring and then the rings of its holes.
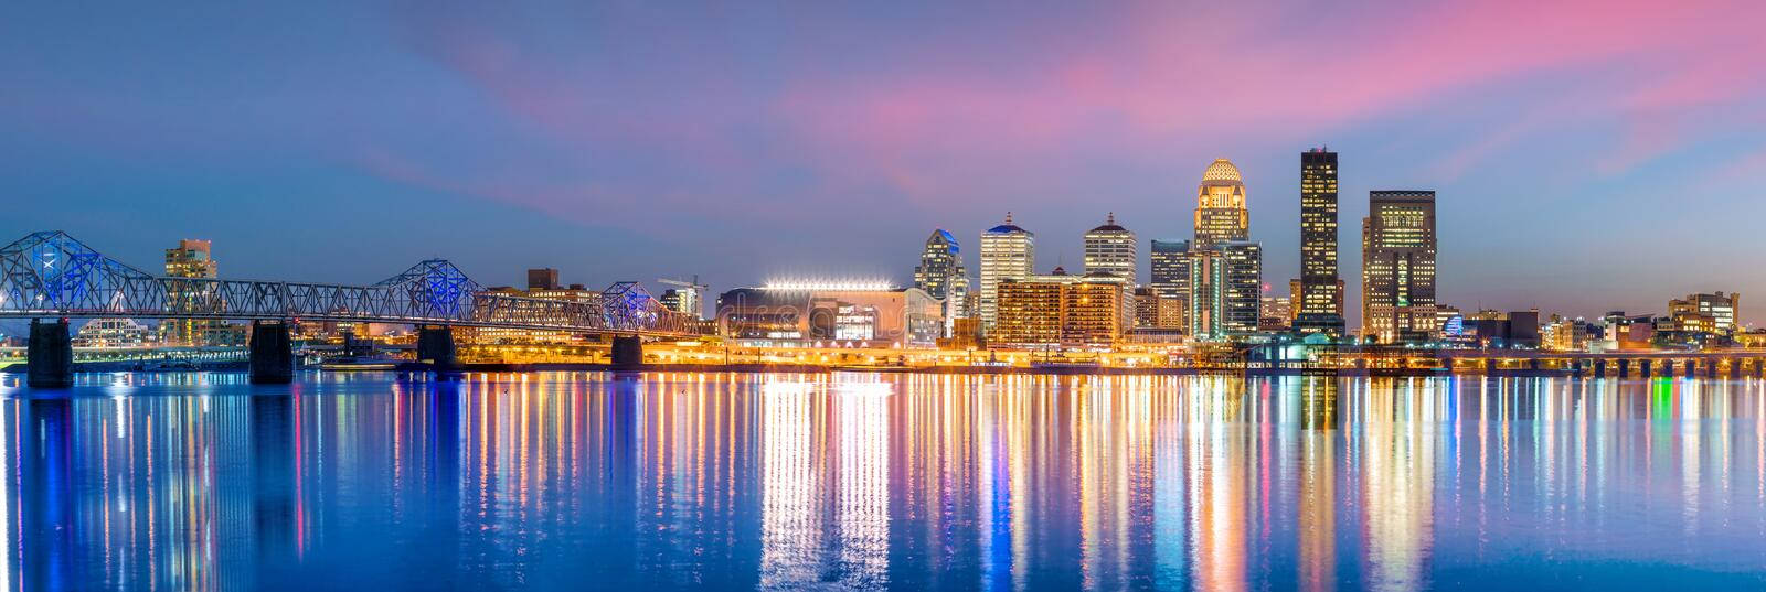
POLYGON ((5 588, 1766 588, 1766 384, 0 382, 5 588))

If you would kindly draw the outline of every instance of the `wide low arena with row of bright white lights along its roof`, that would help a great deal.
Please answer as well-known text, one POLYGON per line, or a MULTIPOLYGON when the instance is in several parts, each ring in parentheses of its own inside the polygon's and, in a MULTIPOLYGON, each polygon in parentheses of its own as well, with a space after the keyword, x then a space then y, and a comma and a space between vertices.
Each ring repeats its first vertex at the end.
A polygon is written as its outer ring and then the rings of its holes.
POLYGON ((786 282, 717 296, 717 333, 754 345, 932 347, 943 301, 918 287, 786 282))

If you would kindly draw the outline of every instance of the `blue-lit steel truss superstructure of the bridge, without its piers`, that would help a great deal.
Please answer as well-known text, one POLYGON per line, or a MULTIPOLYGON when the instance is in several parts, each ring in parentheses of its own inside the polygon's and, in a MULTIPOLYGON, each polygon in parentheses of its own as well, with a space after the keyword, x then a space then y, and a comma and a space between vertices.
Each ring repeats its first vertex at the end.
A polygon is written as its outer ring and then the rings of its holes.
POLYGON ((454 324, 574 333, 689 335, 689 317, 641 285, 599 300, 487 292, 452 263, 429 259, 373 285, 155 277, 65 233, 0 248, 0 317, 131 317, 454 324))

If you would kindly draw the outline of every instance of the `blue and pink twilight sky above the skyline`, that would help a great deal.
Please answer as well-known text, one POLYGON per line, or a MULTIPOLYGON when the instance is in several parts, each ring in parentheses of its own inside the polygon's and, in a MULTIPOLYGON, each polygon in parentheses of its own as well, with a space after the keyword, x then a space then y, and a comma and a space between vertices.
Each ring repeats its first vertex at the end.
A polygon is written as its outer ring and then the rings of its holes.
POLYGON ((1725 289, 1766 324, 1766 4, 1347 5, 14 5, 0 234, 210 238, 235 278, 906 282, 1007 210, 1040 270, 1106 211, 1189 238, 1226 157, 1286 292, 1330 144, 1351 310, 1367 190, 1434 189, 1443 303, 1725 289))

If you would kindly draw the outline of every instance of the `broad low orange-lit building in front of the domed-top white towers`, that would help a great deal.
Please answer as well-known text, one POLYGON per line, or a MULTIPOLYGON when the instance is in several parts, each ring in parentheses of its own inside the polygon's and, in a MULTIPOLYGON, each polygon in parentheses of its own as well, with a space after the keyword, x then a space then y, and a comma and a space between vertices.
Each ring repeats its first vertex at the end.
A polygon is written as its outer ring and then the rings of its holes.
POLYGON ((989 344, 1111 345, 1132 324, 1127 289, 1111 273, 1053 275, 1000 284, 1000 321, 989 344))

